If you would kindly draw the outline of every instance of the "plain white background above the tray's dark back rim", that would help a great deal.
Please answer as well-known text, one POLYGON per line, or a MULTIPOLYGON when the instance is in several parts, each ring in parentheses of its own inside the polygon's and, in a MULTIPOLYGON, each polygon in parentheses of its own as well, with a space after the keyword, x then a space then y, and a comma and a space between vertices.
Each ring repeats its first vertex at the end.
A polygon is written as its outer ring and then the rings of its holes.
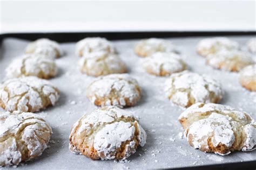
POLYGON ((1 32, 255 31, 255 1, 1 1, 1 32))

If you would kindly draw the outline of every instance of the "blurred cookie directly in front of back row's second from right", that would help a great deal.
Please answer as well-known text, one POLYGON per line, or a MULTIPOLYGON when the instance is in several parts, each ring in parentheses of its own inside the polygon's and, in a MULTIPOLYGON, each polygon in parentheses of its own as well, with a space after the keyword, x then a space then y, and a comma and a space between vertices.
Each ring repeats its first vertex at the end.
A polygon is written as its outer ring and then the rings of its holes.
POLYGON ((219 51, 207 55, 206 63, 213 68, 239 72, 240 69, 252 65, 254 61, 248 53, 242 51, 219 51))

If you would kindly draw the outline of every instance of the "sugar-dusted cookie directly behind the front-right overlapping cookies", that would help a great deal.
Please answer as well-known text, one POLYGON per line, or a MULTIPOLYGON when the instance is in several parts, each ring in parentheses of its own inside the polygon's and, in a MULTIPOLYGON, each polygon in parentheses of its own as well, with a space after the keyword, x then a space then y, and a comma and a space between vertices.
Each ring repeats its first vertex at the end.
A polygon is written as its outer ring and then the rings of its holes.
POLYGON ((187 70, 172 74, 165 84, 168 98, 181 107, 187 108, 197 102, 218 103, 223 98, 219 82, 187 70))

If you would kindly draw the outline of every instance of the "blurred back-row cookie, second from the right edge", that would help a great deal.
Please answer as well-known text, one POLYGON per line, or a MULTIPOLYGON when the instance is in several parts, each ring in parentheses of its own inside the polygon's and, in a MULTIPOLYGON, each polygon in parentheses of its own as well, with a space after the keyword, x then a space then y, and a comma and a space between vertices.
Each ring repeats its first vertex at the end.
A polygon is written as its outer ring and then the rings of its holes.
POLYGON ((197 52, 202 56, 207 56, 208 54, 215 54, 221 50, 232 51, 238 48, 239 45, 236 41, 226 37, 214 37, 200 40, 197 45, 197 52))

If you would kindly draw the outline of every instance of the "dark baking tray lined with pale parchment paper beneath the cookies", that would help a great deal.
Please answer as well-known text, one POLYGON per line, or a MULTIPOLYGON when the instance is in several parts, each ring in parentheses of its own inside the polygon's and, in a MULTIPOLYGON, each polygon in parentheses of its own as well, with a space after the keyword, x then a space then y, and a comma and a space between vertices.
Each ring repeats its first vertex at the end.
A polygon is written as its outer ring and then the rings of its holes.
MULTIPOLYGON (((30 40, 50 38, 59 42, 65 51, 56 60, 59 72, 50 79, 60 90, 60 99, 55 107, 37 114, 43 116, 53 129, 49 148, 36 160, 24 162, 18 169, 145 169, 145 168, 253 168, 256 167, 256 151, 234 152, 225 157, 204 153, 190 147, 185 138, 178 117, 184 109, 167 100, 164 93, 166 77, 156 77, 145 73, 141 67, 142 58, 134 54, 134 44, 140 38, 167 38, 176 44, 183 54, 190 70, 208 74, 220 81, 225 91, 221 104, 244 110, 256 119, 256 93, 242 88, 238 74, 216 70, 205 65, 205 59, 196 53, 199 36, 229 36, 246 50, 246 41, 255 37, 255 32, 112 32, 112 33, 20 33, 2 34, 0 48, 0 80, 4 79, 4 69, 15 56, 23 54, 30 40), (120 57, 126 62, 129 74, 135 77, 143 89, 140 102, 126 108, 136 114, 147 132, 147 144, 138 148, 124 162, 113 160, 91 160, 69 151, 69 134, 73 123, 86 112, 96 109, 85 96, 87 85, 95 77, 81 74, 75 55, 75 42, 85 37, 106 37, 113 40, 120 57), (137 38, 137 39, 136 39, 137 38), (132 39, 132 40, 129 40, 132 39), (73 102, 75 101, 75 102, 73 102), (74 104, 75 103, 75 104, 74 104)), ((255 56, 254 56, 255 57, 255 56)), ((0 110, 2 111, 2 110, 0 110)), ((4 168, 5 169, 5 168, 4 168)), ((7 168, 6 168, 7 169, 7 168)))

